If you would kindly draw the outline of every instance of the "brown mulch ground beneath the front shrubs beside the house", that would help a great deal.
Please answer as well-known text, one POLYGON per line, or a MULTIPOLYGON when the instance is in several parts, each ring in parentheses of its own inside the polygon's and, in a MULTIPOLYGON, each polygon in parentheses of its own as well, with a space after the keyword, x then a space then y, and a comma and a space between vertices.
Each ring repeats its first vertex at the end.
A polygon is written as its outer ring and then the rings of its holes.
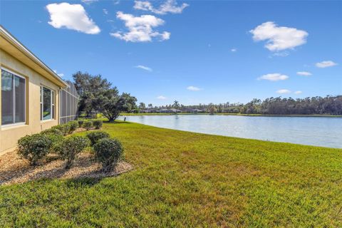
POLYGON ((130 163, 120 161, 112 172, 101 172, 101 166, 93 160, 89 152, 78 155, 69 170, 64 169, 64 166, 64 161, 58 160, 54 155, 49 155, 43 164, 31 167, 26 160, 16 154, 16 151, 7 152, 0 156, 0 185, 24 183, 41 178, 113 177, 133 170, 130 163))

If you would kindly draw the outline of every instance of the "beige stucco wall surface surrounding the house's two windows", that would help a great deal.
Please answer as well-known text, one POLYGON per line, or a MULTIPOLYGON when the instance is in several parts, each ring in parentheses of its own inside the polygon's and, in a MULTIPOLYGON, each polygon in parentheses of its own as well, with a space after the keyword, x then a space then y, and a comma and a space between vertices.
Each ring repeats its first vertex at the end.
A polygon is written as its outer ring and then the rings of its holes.
MULTIPOLYGON (((12 127, 1 126, 1 105, 0 105, 0 154, 9 150, 14 150, 16 142, 19 138, 25 135, 31 135, 33 133, 39 133, 41 130, 51 128, 53 125, 58 124, 59 119, 59 88, 56 84, 48 81, 38 74, 33 69, 24 65, 18 61, 9 53, 4 52, 0 49, 0 63, 1 67, 7 68, 10 71, 18 73, 20 76, 26 78, 26 124, 16 125, 12 127), (40 120, 40 86, 46 86, 55 91, 56 94, 56 110, 54 120, 40 120)), ((1 75, 1 74, 0 74, 1 75)), ((0 80, 1 88, 1 80, 0 80)), ((1 93, 0 93, 0 104, 1 104, 1 93)))

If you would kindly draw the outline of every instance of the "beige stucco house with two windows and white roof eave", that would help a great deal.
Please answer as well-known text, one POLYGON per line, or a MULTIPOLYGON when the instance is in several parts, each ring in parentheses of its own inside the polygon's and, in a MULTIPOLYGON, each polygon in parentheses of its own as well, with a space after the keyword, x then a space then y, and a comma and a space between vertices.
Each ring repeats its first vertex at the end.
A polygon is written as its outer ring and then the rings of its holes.
POLYGON ((60 123, 60 91, 68 91, 69 86, 2 26, 0 66, 0 154, 3 154, 13 150, 19 138, 60 123))

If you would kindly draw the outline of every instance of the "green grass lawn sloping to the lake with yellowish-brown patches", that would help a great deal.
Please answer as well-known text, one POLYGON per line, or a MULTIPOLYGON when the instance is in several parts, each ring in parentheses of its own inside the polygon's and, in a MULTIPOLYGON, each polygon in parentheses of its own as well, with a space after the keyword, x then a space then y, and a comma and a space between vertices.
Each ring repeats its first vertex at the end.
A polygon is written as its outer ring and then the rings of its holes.
POLYGON ((135 170, 0 187, 0 227, 342 227, 342 150, 103 128, 135 170))

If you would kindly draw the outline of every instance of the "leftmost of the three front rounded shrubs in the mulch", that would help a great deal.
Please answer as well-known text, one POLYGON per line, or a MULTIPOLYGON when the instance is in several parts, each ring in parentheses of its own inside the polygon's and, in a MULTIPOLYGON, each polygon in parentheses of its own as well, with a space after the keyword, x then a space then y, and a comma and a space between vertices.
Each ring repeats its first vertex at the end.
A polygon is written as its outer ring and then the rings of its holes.
POLYGON ((46 135, 26 135, 18 140, 18 155, 30 162, 30 165, 38 165, 38 161, 46 157, 52 142, 46 135))

